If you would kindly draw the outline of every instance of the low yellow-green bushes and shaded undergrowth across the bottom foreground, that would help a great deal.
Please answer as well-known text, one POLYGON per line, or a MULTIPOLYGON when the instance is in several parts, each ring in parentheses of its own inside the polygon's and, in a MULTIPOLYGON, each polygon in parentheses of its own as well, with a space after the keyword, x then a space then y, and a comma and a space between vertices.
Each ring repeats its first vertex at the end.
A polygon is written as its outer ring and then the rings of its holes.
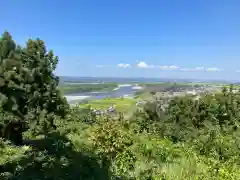
POLYGON ((158 135, 136 133, 135 122, 101 119, 93 125, 58 120, 57 131, 26 146, 4 144, 2 177, 10 179, 237 179, 236 141, 174 143, 158 135), (65 125, 64 125, 65 124, 65 125), (60 133, 59 133, 60 132, 60 133), (235 145, 235 149, 233 149, 235 145), (202 148, 206 148, 202 151, 202 148), (221 159, 219 153, 222 148, 221 159), (232 148, 232 149, 231 149, 232 148), (206 151, 207 150, 207 151, 206 151), (224 152, 225 151, 225 152, 224 152), (206 153, 207 152, 207 153, 206 153))

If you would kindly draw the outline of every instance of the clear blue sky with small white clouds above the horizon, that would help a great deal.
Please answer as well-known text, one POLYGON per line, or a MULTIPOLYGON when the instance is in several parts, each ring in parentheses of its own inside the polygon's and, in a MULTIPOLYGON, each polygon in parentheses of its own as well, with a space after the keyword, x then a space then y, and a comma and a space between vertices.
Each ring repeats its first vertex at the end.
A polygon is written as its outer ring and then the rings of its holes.
POLYGON ((57 75, 239 79, 238 0, 7 0, 0 30, 40 37, 57 75))

